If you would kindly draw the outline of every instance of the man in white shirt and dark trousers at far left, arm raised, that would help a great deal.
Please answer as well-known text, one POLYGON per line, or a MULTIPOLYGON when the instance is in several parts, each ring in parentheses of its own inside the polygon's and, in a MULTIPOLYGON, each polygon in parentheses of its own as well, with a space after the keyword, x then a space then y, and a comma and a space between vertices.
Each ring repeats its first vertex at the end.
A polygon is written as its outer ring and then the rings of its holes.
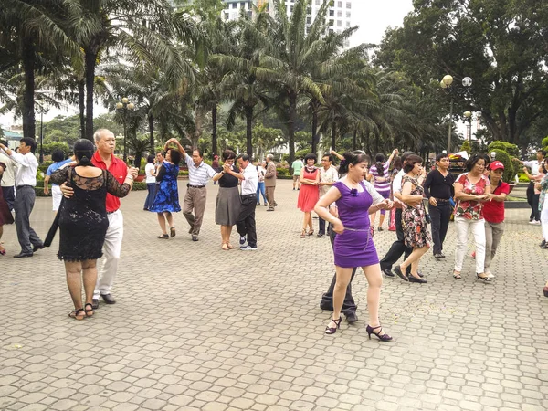
POLYGON ((37 185, 38 162, 34 152, 37 149, 37 142, 28 137, 22 138, 19 144, 19 153, 13 152, 4 144, 0 144, 0 149, 18 164, 14 209, 16 210, 17 239, 21 245, 21 252, 14 257, 32 257, 35 251, 44 248, 44 243, 37 236, 35 230, 30 227, 30 214, 36 198, 34 187, 37 185))

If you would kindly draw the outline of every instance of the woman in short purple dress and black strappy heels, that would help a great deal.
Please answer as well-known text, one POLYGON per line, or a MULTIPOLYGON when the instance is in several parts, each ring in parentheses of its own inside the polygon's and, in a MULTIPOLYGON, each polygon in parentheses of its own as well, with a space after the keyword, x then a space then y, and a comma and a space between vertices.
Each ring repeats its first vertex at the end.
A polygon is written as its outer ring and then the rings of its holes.
POLYGON ((334 255, 337 282, 333 291, 332 321, 325 333, 333 334, 341 326, 342 301, 346 287, 352 276, 354 267, 364 270, 369 284, 367 289, 367 308, 369 324, 367 333, 381 341, 390 341, 392 337, 386 334, 379 321, 379 304, 383 277, 373 238, 370 233, 369 215, 382 209, 392 208, 392 202, 379 195, 372 184, 364 181, 367 174, 367 155, 361 151, 344 153, 339 172, 346 174, 333 184, 315 206, 314 211, 332 224, 337 233, 335 237, 334 255), (335 203, 339 209, 339 218, 333 217, 328 207, 335 203))

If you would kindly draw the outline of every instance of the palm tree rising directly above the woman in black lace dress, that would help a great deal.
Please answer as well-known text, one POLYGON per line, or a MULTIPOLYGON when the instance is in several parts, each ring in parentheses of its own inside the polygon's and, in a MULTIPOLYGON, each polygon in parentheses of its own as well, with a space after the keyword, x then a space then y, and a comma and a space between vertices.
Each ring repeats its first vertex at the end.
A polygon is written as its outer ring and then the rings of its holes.
POLYGON ((176 33, 186 36, 193 23, 184 13, 172 16, 165 0, 66 0, 69 2, 68 31, 84 53, 86 83, 86 138, 93 135, 95 72, 108 49, 125 50, 134 66, 157 64, 169 68, 169 80, 194 73, 184 64, 174 43, 176 33))

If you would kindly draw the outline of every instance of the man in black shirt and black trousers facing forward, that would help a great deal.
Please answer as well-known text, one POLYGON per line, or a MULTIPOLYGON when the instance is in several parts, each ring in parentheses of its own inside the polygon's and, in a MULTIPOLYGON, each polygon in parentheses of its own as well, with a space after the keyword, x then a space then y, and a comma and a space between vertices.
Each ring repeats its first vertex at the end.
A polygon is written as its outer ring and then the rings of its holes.
POLYGON ((434 257, 444 258, 443 241, 451 218, 451 204, 449 199, 454 195, 455 177, 449 173, 448 154, 437 154, 436 170, 427 175, 425 194, 428 198, 428 212, 432 220, 432 240, 434 241, 434 257))

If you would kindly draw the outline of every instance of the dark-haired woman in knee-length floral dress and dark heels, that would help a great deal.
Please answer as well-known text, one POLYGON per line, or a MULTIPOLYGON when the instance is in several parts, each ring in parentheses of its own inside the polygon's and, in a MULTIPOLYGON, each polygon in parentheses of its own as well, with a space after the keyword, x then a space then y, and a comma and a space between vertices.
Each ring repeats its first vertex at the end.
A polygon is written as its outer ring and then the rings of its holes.
POLYGON ((422 187, 422 179, 425 175, 422 158, 416 154, 408 156, 406 165, 404 165, 404 172, 406 172, 406 175, 402 178, 402 200, 404 202, 402 227, 406 247, 413 248, 413 252, 399 267, 395 267, 394 271, 401 279, 424 284, 428 281, 418 275, 418 262, 430 248, 432 238, 428 233, 427 212, 425 205, 422 203, 425 193, 422 187), (417 197, 421 200, 418 205, 407 205, 406 202, 416 200, 417 197), (407 277, 404 273, 409 266, 411 266, 411 276, 407 277))

